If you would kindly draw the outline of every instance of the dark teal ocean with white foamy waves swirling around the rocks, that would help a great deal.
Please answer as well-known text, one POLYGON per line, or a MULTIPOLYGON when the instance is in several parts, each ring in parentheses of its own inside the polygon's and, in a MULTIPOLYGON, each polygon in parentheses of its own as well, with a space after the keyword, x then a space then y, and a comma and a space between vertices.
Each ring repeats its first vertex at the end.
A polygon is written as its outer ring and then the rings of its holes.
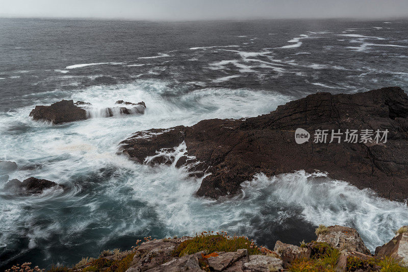
POLYGON ((67 187, 17 196, 0 183, 0 270, 72 265, 146 236, 208 230, 273 249, 315 239, 319 224, 356 228, 374 251, 407 225, 404 203, 304 171, 260 173, 238 195, 205 199, 195 196, 201 179, 184 169, 116 152, 137 131, 257 116, 317 91, 408 90, 407 29, 408 20, 0 18, 0 160, 19 166, 10 180, 67 187), (29 117, 62 99, 147 109, 54 126, 29 117))

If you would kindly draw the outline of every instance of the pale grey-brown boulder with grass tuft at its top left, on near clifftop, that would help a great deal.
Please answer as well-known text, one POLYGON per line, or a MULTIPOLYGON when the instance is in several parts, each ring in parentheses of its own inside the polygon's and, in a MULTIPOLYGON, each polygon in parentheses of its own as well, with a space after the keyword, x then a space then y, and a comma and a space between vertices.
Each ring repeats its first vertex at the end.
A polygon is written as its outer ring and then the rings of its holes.
POLYGON ((327 227, 327 231, 319 234, 316 241, 328 243, 339 250, 345 249, 371 255, 360 234, 352 228, 338 225, 327 227))

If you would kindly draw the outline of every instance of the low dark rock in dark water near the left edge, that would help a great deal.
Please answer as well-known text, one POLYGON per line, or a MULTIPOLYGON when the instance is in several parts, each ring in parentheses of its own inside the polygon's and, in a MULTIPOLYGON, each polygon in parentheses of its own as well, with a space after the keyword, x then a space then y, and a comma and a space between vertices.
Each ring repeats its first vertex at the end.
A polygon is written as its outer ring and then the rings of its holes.
POLYGON ((58 185, 53 181, 41 180, 32 177, 24 180, 23 182, 13 179, 6 183, 4 189, 19 194, 37 194, 54 186, 60 186, 63 188, 63 186, 58 185))

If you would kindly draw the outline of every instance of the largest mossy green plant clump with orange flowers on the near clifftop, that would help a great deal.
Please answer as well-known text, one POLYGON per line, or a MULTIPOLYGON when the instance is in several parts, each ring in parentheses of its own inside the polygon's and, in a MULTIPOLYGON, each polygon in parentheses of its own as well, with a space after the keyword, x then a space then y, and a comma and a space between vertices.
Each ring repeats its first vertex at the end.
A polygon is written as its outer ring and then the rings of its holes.
POLYGON ((195 234, 193 239, 182 242, 173 251, 173 256, 182 257, 200 251, 234 252, 239 249, 247 249, 250 255, 267 254, 269 250, 258 247, 253 241, 244 236, 228 236, 226 232, 201 232, 195 234))

